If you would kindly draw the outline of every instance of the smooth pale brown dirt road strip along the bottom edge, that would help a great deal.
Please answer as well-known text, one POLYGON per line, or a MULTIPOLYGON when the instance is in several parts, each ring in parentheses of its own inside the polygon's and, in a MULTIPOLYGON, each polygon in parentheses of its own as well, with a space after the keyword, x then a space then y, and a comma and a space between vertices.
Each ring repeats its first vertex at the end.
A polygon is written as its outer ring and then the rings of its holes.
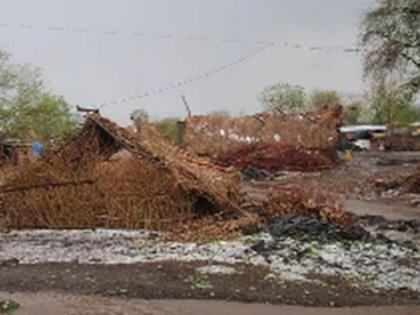
POLYGON ((126 300, 96 296, 7 294, 21 304, 15 315, 417 315, 420 307, 303 308, 195 300, 126 300))

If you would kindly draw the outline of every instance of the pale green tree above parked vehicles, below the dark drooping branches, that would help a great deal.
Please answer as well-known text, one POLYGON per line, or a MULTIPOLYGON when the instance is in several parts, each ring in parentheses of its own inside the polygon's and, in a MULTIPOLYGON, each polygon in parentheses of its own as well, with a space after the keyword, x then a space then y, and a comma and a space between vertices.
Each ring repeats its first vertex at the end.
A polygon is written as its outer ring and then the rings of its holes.
POLYGON ((406 125, 418 119, 413 105, 413 95, 395 81, 380 80, 372 85, 368 95, 373 122, 406 125))

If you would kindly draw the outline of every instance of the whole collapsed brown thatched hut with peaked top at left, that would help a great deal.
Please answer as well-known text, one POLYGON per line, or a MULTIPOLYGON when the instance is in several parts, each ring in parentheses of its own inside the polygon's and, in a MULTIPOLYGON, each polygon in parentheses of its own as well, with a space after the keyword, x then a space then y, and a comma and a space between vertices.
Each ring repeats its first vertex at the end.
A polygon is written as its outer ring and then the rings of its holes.
POLYGON ((241 194, 231 171, 180 151, 152 127, 131 134, 94 114, 59 150, 9 174, 3 198, 14 228, 167 229, 238 213, 241 194))

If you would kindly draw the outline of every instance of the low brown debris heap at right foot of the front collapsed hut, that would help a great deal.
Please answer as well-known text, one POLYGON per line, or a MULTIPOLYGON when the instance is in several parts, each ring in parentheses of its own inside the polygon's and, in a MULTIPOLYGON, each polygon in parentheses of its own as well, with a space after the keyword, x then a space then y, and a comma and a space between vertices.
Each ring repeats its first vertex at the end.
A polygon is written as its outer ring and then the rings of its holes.
MULTIPOLYGON (((207 216, 180 224, 172 229, 176 235, 171 240, 200 241, 231 239, 238 232, 254 234, 266 229, 276 221, 290 215, 297 215, 308 220, 322 221, 332 229, 346 233, 358 229, 356 218, 343 210, 342 204, 333 196, 295 186, 277 188, 266 197, 247 195, 242 204, 241 216, 234 219, 220 219, 207 216)), ((338 233, 338 232, 337 232, 338 233)))

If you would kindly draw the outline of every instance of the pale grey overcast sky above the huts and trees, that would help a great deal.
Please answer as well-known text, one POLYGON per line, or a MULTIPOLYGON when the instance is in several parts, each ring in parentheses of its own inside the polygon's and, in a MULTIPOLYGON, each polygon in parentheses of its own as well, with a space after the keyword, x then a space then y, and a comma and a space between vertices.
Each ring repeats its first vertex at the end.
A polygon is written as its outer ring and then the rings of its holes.
MULTIPOLYGON (((263 47, 256 41, 354 46, 360 16, 373 0, 0 0, 0 49, 42 68, 48 88, 71 104, 98 106, 195 77, 263 47), (35 25, 30 29, 22 25, 35 25), (21 25, 21 26, 19 26, 21 25), (49 26, 88 32, 46 30, 49 26), (119 34, 106 35, 108 30, 119 34), (145 35, 132 36, 133 33, 145 35), (131 35, 130 35, 131 34, 131 35), (171 35, 162 38, 161 35, 171 35), (188 40, 205 36, 206 40, 188 40), (223 38, 243 41, 222 42, 223 38)), ((165 36, 163 36, 165 37, 165 36)), ((278 44, 193 84, 103 113, 127 123, 144 108, 152 116, 261 110, 256 96, 289 82, 342 93, 363 91, 360 56, 278 44)))

